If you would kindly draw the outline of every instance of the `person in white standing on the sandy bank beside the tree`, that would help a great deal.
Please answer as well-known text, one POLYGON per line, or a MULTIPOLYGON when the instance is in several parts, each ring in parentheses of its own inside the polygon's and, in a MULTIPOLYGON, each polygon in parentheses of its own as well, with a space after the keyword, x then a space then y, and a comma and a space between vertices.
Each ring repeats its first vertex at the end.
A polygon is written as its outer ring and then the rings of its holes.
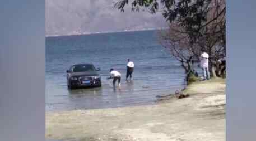
POLYGON ((204 50, 201 50, 201 51, 202 51, 202 54, 200 56, 200 66, 203 70, 203 80, 209 80, 210 79, 210 72, 208 67, 209 55, 204 50))

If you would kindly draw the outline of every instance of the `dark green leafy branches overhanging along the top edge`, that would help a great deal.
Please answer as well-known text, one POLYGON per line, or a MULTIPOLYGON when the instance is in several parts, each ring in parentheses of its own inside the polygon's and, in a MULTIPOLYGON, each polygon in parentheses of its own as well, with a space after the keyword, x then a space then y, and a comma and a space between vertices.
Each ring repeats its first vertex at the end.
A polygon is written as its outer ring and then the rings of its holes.
POLYGON ((132 11, 146 9, 151 13, 162 12, 166 21, 170 23, 178 21, 180 26, 185 27, 186 31, 193 35, 194 32, 201 30, 215 21, 222 13, 225 13, 226 7, 223 7, 216 17, 207 20, 213 1, 219 0, 120 0, 115 3, 115 7, 124 12, 124 7, 131 4, 132 11))

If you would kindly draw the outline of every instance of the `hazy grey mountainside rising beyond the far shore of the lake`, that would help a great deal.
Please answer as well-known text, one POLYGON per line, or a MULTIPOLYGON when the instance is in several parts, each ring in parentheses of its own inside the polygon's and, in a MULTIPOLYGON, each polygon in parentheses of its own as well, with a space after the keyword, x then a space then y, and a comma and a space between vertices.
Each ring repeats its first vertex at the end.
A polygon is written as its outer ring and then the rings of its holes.
POLYGON ((114 8, 118 0, 46 0, 46 36, 78 32, 113 32, 166 26, 161 13, 122 13, 114 8))

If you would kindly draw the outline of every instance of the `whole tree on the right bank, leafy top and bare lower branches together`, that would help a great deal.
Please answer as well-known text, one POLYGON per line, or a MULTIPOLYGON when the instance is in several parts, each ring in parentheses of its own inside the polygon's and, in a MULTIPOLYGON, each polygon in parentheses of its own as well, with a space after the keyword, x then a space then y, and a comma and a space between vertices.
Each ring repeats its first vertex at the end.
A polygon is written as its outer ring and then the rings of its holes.
POLYGON ((226 56, 225 0, 120 0, 115 7, 124 12, 128 4, 132 11, 162 13, 170 28, 161 32, 161 44, 187 72, 190 62, 199 60, 201 48, 210 55, 213 71, 215 62, 226 56))

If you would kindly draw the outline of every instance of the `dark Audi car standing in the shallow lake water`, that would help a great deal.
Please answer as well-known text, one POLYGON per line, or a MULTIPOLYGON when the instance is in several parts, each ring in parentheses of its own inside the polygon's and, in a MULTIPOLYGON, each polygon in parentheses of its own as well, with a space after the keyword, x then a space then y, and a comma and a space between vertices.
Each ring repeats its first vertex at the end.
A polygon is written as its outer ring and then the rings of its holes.
POLYGON ((76 64, 67 70, 68 89, 80 87, 101 87, 99 71, 93 64, 76 64))

